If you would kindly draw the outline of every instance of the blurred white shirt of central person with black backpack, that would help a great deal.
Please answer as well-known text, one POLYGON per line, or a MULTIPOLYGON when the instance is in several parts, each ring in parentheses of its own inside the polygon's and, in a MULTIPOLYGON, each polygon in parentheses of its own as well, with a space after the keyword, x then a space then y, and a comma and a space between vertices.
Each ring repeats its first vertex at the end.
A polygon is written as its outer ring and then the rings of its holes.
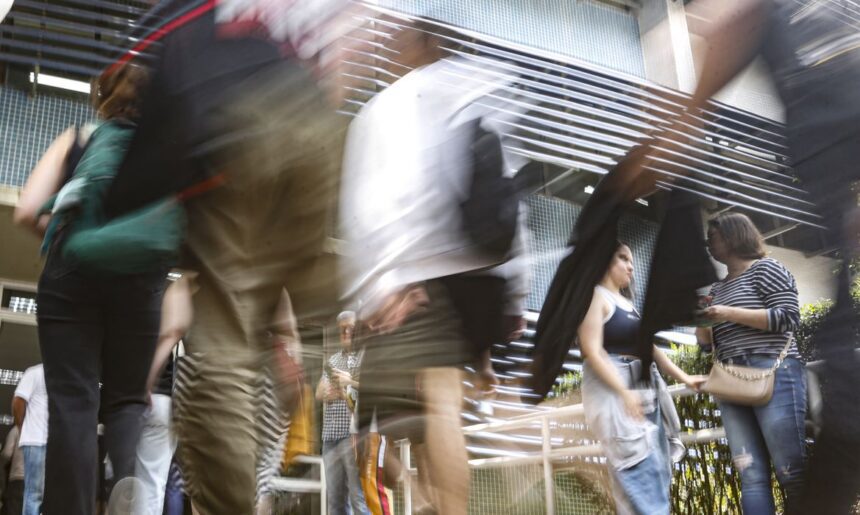
MULTIPOLYGON (((344 296, 357 296, 363 310, 374 312, 404 285, 500 263, 477 250, 462 228, 471 154, 458 131, 479 119, 487 129, 510 127, 502 122, 516 118, 508 113, 523 102, 500 100, 513 80, 503 65, 450 58, 415 69, 353 118, 340 225, 350 253, 344 296)), ((503 157, 513 174, 519 162, 503 157)))

